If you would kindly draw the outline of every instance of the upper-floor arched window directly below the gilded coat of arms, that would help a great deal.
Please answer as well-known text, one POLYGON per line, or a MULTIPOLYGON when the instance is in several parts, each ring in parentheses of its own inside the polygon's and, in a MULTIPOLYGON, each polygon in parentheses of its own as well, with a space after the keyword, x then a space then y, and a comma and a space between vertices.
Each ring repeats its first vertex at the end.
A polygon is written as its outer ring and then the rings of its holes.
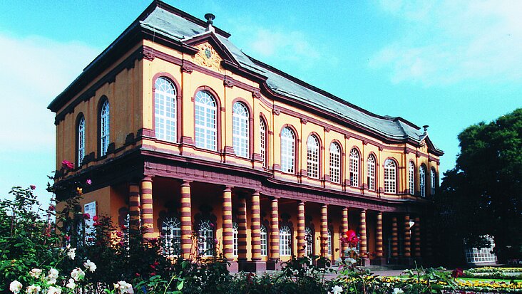
POLYGON ((199 91, 195 95, 195 145, 196 147, 217 149, 217 104, 215 98, 207 91, 199 91))

